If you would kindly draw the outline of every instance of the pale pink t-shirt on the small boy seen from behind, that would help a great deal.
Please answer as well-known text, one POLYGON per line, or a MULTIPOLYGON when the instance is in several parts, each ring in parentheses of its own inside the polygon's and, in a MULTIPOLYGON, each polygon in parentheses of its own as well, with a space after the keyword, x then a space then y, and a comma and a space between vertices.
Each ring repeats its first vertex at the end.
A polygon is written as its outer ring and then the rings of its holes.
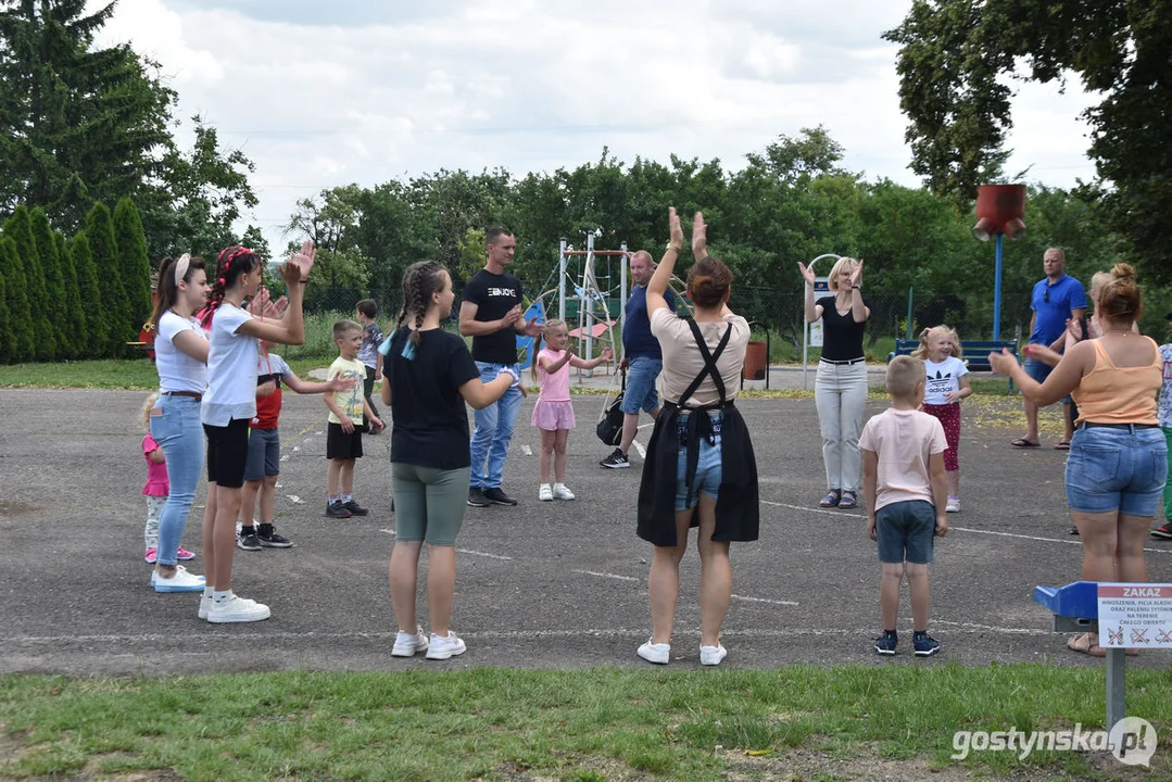
POLYGON ((940 419, 888 408, 863 427, 859 449, 879 457, 875 510, 895 502, 933 502, 928 458, 948 450, 940 419))

